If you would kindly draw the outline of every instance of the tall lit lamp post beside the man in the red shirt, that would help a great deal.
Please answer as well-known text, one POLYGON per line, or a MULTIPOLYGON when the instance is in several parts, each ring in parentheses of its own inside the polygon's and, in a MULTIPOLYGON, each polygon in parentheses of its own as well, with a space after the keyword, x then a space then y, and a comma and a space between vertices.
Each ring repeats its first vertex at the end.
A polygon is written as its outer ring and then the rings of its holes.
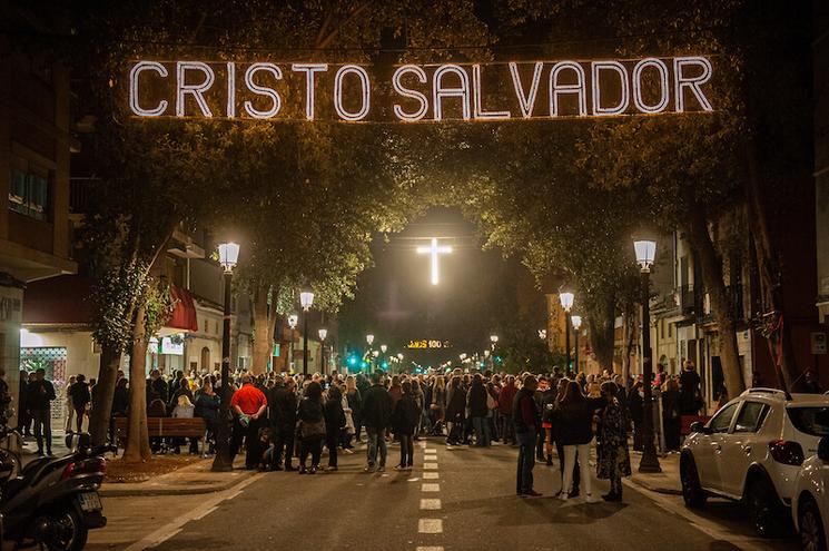
POLYGON ((227 421, 230 412, 230 291, 233 287, 234 267, 239 260, 239 246, 236 243, 219 245, 219 264, 225 268, 225 317, 221 326, 221 388, 219 396, 220 419, 216 435, 218 453, 213 460, 211 471, 233 471, 230 460, 230 425, 227 421))

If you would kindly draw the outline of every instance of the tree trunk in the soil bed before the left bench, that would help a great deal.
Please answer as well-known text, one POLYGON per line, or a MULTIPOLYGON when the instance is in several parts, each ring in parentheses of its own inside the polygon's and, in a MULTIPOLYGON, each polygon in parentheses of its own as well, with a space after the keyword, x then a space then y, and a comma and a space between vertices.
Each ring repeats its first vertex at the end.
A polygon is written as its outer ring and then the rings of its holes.
POLYGON ((132 351, 129 358, 129 432, 124 461, 139 463, 151 457, 147 434, 147 317, 145 305, 138 307, 132 329, 132 351))

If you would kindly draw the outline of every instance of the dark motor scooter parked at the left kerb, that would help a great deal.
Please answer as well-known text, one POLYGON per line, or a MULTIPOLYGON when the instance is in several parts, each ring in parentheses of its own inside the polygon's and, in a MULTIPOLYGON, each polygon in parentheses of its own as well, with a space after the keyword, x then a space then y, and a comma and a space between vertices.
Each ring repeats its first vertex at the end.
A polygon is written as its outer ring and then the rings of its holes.
POLYGON ((103 454, 110 451, 110 445, 92 446, 83 434, 69 455, 37 459, 6 481, 0 489, 3 540, 49 551, 82 550, 89 530, 107 525, 98 489, 103 454))

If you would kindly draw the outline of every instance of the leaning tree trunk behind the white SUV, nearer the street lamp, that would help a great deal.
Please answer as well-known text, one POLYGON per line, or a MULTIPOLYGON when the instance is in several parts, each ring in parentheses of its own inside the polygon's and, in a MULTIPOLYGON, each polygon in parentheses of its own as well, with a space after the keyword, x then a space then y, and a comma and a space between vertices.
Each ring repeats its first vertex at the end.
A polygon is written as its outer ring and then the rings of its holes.
POLYGON ((722 374, 728 397, 732 399, 746 388, 737 346, 733 307, 722 279, 722 259, 714 249, 703 209, 699 205, 691 205, 690 210, 685 232, 694 253, 694 262, 699 262, 700 265, 702 279, 711 301, 711 311, 717 318, 722 374))

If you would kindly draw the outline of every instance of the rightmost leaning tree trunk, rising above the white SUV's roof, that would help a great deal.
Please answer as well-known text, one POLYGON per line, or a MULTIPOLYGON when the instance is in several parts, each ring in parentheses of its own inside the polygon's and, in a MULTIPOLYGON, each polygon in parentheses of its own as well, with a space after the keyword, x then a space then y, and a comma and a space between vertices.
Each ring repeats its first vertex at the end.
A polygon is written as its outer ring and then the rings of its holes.
POLYGON ((774 365, 778 385, 791 392, 795 390, 792 384, 798 381, 800 371, 797 367, 795 350, 791 345, 791 324, 786 323, 783 316, 779 259, 773 252, 766 210, 760 200, 760 170, 758 169, 757 148, 751 137, 746 138, 746 157, 749 168, 749 175, 746 178, 747 218, 757 257, 760 295, 764 311, 763 322, 767 329, 766 342, 774 365))

